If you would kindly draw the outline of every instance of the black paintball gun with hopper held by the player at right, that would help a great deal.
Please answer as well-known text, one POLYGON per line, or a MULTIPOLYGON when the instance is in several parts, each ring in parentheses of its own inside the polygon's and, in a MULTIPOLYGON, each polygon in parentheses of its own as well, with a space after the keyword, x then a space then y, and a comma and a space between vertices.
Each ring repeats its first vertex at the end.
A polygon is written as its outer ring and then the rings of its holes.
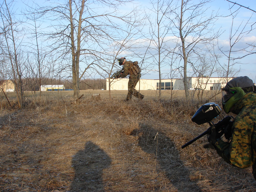
POLYGON ((230 121, 230 119, 232 118, 231 116, 226 116, 224 119, 222 119, 216 124, 212 123, 212 120, 216 118, 220 114, 220 112, 220 106, 218 104, 215 104, 214 102, 202 105, 193 115, 191 120, 198 125, 208 122, 210 127, 196 138, 184 144, 181 148, 183 149, 192 144, 193 142, 195 142, 196 140, 198 140, 199 138, 201 138, 202 136, 210 134, 212 132, 212 125, 214 125, 214 127, 216 128, 219 137, 221 137, 224 134, 225 138, 229 139, 232 134, 230 129, 233 123, 232 121, 230 121))

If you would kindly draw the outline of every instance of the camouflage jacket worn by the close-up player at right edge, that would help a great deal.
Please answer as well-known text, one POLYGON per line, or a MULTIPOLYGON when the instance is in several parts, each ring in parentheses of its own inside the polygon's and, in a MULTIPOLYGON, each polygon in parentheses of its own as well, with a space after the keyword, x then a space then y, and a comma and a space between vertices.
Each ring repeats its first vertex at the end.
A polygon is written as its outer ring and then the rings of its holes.
POLYGON ((215 148, 229 164, 247 168, 256 165, 256 93, 250 92, 240 99, 235 111, 239 113, 232 126, 232 140, 218 140, 215 148))

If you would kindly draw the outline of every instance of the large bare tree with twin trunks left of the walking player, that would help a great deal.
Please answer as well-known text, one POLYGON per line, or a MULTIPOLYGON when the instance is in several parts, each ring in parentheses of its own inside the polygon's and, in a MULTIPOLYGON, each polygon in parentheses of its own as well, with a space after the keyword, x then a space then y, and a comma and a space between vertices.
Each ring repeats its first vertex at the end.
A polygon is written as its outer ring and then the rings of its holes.
MULTIPOLYGON (((99 67, 106 44, 116 36, 116 22, 125 21, 126 15, 117 16, 118 5, 126 1, 100 0, 102 6, 112 7, 112 12, 100 13, 95 2, 68 0, 66 4, 38 9, 38 15, 51 22, 48 29, 52 50, 61 64, 59 71, 69 73, 72 69, 74 98, 79 98, 79 82, 87 71, 99 67), (71 63, 71 65, 70 65, 71 63), (82 66, 82 67, 81 67, 82 66)), ((97 4, 98 5, 98 4, 97 4)), ((35 12, 35 11, 34 11, 35 12)), ((69 75, 67 75, 69 76, 69 75)))

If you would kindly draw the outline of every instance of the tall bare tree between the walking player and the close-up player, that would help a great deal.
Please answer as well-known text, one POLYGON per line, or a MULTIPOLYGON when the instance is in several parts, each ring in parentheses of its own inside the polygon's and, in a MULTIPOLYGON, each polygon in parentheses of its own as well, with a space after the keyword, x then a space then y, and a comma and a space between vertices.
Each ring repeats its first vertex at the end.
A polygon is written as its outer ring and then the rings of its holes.
POLYGON ((193 54, 200 55, 205 44, 213 41, 219 36, 219 31, 214 31, 214 22, 218 17, 218 13, 206 15, 207 3, 210 0, 200 0, 194 3, 193 0, 181 0, 181 5, 176 6, 174 10, 175 18, 172 21, 172 33, 176 36, 180 43, 178 54, 183 60, 183 82, 185 88, 186 99, 189 98, 188 92, 188 76, 187 67, 190 57, 193 54))

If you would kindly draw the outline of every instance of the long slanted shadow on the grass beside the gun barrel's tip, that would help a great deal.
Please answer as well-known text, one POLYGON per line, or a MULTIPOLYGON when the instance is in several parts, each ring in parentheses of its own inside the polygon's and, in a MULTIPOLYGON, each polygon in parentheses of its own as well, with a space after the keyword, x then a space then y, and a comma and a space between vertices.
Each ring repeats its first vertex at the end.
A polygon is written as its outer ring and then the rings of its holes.
POLYGON ((145 124, 141 124, 140 129, 134 130, 132 134, 139 136, 138 144, 144 152, 156 157, 156 161, 160 165, 158 171, 164 172, 166 178, 178 192, 201 192, 199 186, 190 180, 190 171, 180 160, 179 151, 170 138, 145 124))

